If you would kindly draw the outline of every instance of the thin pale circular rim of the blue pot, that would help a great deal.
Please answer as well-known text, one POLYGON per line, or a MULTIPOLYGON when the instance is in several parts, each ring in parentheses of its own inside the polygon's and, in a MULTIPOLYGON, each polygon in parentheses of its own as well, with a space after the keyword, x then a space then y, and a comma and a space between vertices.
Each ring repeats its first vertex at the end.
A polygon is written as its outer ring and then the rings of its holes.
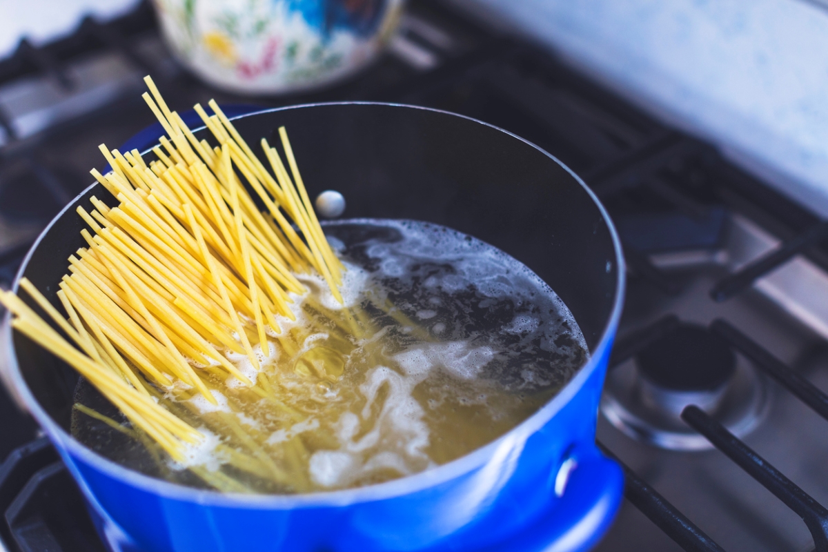
MULTIPOLYGON (((618 329, 626 283, 625 263, 623 260, 623 252, 618 233, 616 232, 612 219, 609 218, 609 214, 606 209, 604 209, 604 205, 601 204, 595 193, 590 190, 590 188, 585 185, 584 181, 581 180, 578 175, 575 175, 569 167, 558 160, 556 156, 553 156, 548 151, 543 150, 540 146, 517 136, 513 132, 508 132, 503 128, 489 124, 488 122, 483 122, 479 119, 467 117, 459 113, 451 113, 442 109, 426 108, 422 106, 408 105, 405 103, 320 102, 303 103, 282 108, 262 109, 253 113, 239 115, 238 117, 232 118, 232 120, 254 117, 261 115, 262 113, 274 113, 287 109, 314 108, 335 105, 378 105, 392 108, 409 108, 430 111, 433 113, 441 113, 451 117, 465 118, 471 122, 476 122, 484 125, 485 127, 493 128, 494 130, 503 132, 508 134, 510 137, 524 142, 527 146, 531 146, 538 151, 541 151, 544 155, 551 158, 552 161, 555 161, 559 166, 566 170, 566 172, 568 172, 575 179, 575 182, 577 182, 585 190, 585 192, 589 194, 590 198, 599 209, 599 213, 604 218, 604 222, 609 228, 609 234, 613 241, 615 262, 617 266, 616 270, 618 276, 615 282, 613 308, 607 323, 604 325, 604 331, 601 334, 599 343, 595 347, 595 351, 590 354, 590 360, 587 361, 583 367, 580 367, 580 370, 575 374, 575 377, 570 379, 563 389, 561 389, 556 396, 552 397, 551 401, 547 402, 546 405, 542 406, 526 420, 523 420, 520 424, 513 427, 512 430, 509 430, 507 433, 498 437, 498 439, 494 439, 491 443, 485 444, 479 449, 474 449, 469 454, 456 458, 449 463, 442 464, 436 468, 429 468, 423 472, 415 473, 403 478, 376 483, 366 487, 309 492, 296 495, 248 495, 241 493, 215 492, 195 487, 185 487, 184 485, 180 485, 178 483, 152 478, 143 473, 133 471, 132 469, 124 468, 120 464, 103 457, 102 455, 94 452, 92 449, 88 449, 86 446, 81 444, 62 427, 60 427, 55 420, 52 420, 51 416, 46 413, 46 410, 43 410, 26 385, 26 380, 22 376, 22 372, 20 371, 20 367, 17 363, 17 353, 14 350, 12 325, 10 324, 11 313, 7 312, 5 318, 3 319, 4 324, 2 324, 2 335, 0 335, 0 339, 4 341, 4 346, 7 350, 7 357, 9 361, 9 379, 16 388, 15 391, 17 391, 21 397, 26 408, 29 410, 31 415, 34 416, 38 424, 41 425, 41 428, 45 431, 53 443, 60 444, 60 447, 62 447, 66 453, 70 454, 74 458, 78 458, 86 464, 89 464, 90 467, 104 473, 110 478, 128 483, 132 487, 137 487, 144 492, 149 492, 169 499, 180 500, 183 502, 193 502, 204 506, 243 507, 251 509, 292 509, 296 507, 346 506, 354 503, 373 502, 392 497, 399 497, 413 492, 419 492, 429 487, 435 487, 440 483, 459 478, 465 473, 471 473, 476 468, 482 467, 489 458, 497 456, 497 450, 500 447, 511 448, 516 442, 519 443, 525 441, 531 434, 535 433, 543 425, 546 425, 546 422, 551 420, 551 418, 556 415, 556 413, 561 410, 563 406, 565 406, 572 399, 572 397, 577 394, 578 391, 580 391, 580 388, 584 386, 591 373, 598 367, 601 359, 604 358, 604 355, 609 353, 609 347, 613 341, 615 331, 618 329)), ((203 128, 204 127, 202 126, 194 128, 193 130, 195 132, 196 130, 201 130, 203 128)), ((60 210, 60 213, 55 215, 55 218, 53 218, 51 222, 46 225, 46 228, 44 228, 38 235, 35 242, 26 253, 26 257, 24 257, 20 269, 17 271, 17 275, 15 276, 14 284, 12 286, 13 292, 17 293, 19 281, 23 275, 23 272, 26 270, 26 266, 31 260, 31 255, 40 245, 42 239, 46 236, 46 233, 49 232, 51 227, 59 218, 75 206, 81 196, 86 194, 95 185, 98 185, 98 183, 95 182, 92 185, 89 185, 74 199, 72 199, 69 204, 66 204, 65 207, 60 210)))

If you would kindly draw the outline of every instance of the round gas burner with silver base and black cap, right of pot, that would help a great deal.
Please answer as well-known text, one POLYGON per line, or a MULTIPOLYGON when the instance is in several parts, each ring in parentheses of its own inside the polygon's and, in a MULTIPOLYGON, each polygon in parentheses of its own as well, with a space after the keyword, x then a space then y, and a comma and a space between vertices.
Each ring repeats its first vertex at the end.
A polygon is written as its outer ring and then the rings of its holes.
POLYGON ((748 434, 768 405, 765 382, 719 335, 678 324, 607 375, 601 410, 633 439, 662 449, 713 445, 681 420, 695 405, 738 437, 748 434))

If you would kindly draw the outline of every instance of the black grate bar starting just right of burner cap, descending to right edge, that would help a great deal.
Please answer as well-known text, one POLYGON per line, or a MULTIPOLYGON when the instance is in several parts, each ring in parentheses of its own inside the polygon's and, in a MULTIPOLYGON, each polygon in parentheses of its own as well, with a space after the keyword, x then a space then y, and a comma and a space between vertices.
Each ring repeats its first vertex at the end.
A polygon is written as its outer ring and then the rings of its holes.
POLYGON ((779 382, 793 395, 810 406, 817 414, 828 420, 828 395, 820 391, 811 382, 808 382, 797 372, 794 372, 784 362, 768 353, 766 349, 754 342, 729 322, 716 319, 710 324, 710 329, 727 339, 735 348, 739 349, 753 364, 779 382))

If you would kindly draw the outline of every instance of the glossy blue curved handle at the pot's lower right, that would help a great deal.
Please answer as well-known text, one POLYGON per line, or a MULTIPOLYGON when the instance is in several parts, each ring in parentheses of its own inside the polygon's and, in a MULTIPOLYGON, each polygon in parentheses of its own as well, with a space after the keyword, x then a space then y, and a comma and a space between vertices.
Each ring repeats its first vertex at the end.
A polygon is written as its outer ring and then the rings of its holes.
MULTIPOLYGON (((590 550, 609 529, 623 495, 623 472, 595 445, 575 451, 555 478, 559 494, 542 516, 508 540, 509 550, 521 552, 580 552, 590 550)), ((480 552, 503 550, 503 543, 480 552)))

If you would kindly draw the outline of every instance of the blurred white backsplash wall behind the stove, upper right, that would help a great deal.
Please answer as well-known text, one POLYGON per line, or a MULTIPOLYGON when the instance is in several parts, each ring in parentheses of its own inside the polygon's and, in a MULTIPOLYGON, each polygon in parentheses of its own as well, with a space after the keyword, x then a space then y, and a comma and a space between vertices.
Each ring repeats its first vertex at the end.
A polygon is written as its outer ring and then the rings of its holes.
POLYGON ((828 216, 821 0, 455 0, 552 46, 828 216))

